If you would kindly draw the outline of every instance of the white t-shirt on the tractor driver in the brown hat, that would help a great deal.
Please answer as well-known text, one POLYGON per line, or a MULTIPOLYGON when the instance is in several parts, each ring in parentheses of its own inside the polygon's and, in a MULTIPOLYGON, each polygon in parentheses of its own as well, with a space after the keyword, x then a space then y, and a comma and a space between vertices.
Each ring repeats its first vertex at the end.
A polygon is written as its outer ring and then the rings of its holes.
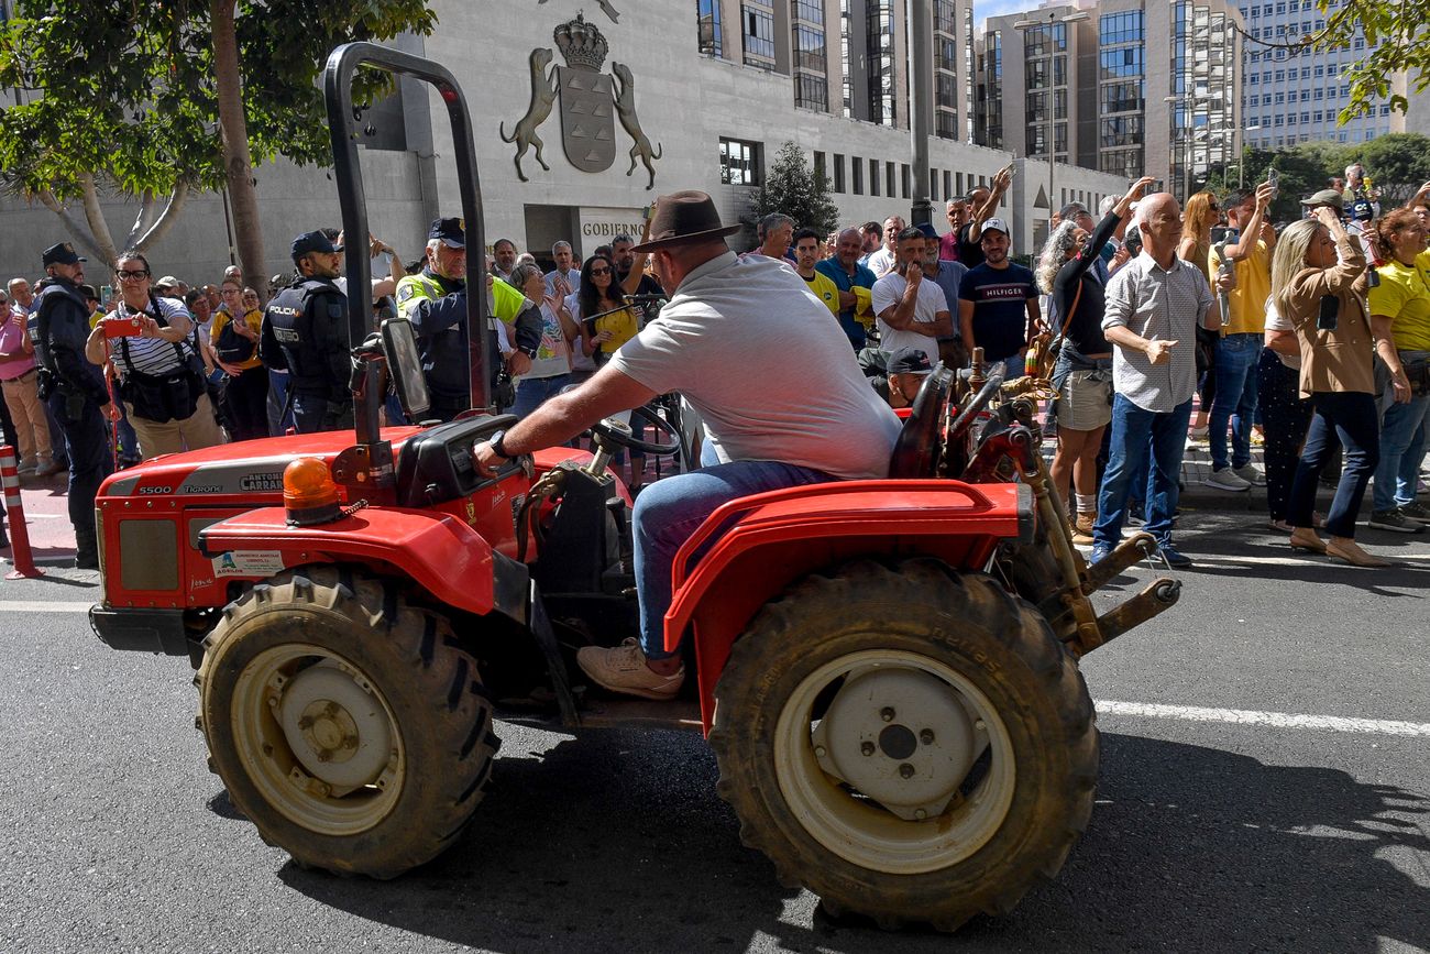
POLYGON ((825 303, 778 262, 726 252, 701 265, 611 363, 656 393, 681 392, 722 463, 888 476, 898 418, 825 303))

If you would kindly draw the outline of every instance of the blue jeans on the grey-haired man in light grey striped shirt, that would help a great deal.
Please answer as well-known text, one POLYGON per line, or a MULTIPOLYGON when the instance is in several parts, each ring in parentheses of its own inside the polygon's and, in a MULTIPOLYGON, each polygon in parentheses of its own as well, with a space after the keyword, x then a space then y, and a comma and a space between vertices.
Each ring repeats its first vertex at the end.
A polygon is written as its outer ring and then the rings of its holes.
POLYGON ((1151 471, 1147 475, 1147 523, 1143 529, 1157 538, 1158 545, 1171 542, 1171 518, 1181 493, 1177 481, 1181 476, 1190 419, 1190 398, 1168 413, 1144 410, 1123 395, 1113 398, 1113 456, 1103 475, 1097 496, 1097 525, 1093 528, 1093 541, 1098 546, 1117 546, 1121 542, 1127 498, 1133 483, 1147 473, 1144 466, 1148 453, 1151 471))

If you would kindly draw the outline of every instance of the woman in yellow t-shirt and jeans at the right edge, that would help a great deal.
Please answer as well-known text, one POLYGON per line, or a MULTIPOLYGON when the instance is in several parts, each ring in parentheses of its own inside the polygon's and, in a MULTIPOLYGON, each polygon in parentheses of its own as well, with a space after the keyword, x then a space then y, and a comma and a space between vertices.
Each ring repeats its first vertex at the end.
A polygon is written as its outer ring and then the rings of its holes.
POLYGON ((1390 369, 1390 390, 1381 398, 1380 465, 1376 468, 1370 526, 1419 533, 1430 509, 1416 502, 1420 462, 1430 428, 1430 286, 1426 283, 1426 232, 1409 209, 1380 220, 1386 263, 1370 289, 1370 326, 1376 353, 1390 369))

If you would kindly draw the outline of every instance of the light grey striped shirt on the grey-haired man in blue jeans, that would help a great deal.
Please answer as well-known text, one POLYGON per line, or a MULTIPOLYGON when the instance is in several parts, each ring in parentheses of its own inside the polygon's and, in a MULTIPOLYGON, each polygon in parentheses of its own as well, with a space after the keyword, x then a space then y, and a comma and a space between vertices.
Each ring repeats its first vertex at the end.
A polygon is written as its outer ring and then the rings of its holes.
POLYGON ((1107 283, 1103 330, 1125 328, 1147 340, 1174 340, 1171 360, 1153 365, 1140 350, 1113 348, 1113 389, 1143 410, 1170 413, 1197 389, 1197 326, 1211 309, 1211 287, 1197 266, 1174 259, 1163 269, 1144 249, 1107 283))

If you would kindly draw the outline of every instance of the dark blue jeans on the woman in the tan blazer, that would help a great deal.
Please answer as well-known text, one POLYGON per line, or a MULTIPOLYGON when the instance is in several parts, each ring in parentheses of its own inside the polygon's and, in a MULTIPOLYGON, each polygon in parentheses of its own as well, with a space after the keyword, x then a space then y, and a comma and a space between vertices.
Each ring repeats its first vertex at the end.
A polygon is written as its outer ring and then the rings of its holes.
POLYGON ((1366 483, 1380 461, 1380 432, 1376 428, 1376 396, 1356 390, 1311 395, 1316 415, 1306 435, 1301 461, 1291 482, 1291 501, 1286 521, 1291 526, 1313 526, 1316 483, 1326 459, 1336 448, 1346 448, 1346 463, 1326 516, 1331 536, 1356 536, 1356 516, 1366 496, 1366 483))

